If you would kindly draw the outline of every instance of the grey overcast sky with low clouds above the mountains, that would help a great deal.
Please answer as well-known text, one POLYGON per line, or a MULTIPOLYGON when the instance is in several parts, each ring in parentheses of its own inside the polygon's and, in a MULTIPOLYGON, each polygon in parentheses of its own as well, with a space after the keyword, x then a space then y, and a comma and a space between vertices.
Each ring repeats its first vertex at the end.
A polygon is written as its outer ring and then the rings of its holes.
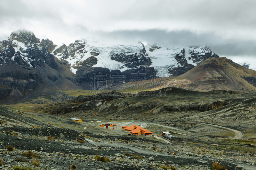
POLYGON ((8 0, 0 3, 0 40, 27 29, 70 44, 207 45, 236 62, 256 54, 255 0, 8 0))

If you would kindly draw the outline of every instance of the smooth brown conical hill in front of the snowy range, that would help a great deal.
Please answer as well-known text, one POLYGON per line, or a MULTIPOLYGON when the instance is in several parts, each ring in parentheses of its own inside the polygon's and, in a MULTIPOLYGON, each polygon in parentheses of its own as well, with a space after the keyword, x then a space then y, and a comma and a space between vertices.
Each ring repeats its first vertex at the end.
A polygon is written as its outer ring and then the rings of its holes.
POLYGON ((225 57, 209 58, 188 72, 166 81, 174 86, 199 91, 256 90, 256 71, 225 57))

